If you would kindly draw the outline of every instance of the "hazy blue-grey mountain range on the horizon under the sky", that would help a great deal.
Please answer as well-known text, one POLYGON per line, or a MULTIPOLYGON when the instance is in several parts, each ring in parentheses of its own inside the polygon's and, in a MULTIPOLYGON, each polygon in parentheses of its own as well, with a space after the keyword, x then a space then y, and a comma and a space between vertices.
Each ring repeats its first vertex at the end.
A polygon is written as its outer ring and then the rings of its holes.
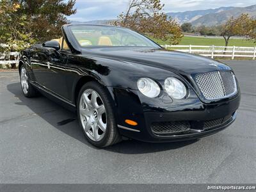
MULTIPOLYGON (((241 13, 248 13, 251 17, 256 17, 256 4, 247 7, 228 6, 209 10, 166 13, 166 15, 177 20, 179 24, 191 22, 193 26, 215 26, 223 24, 227 22, 230 17, 237 17, 241 15, 241 13)), ((71 22, 74 24, 108 24, 113 20, 90 20, 86 22, 71 20, 71 22)))

